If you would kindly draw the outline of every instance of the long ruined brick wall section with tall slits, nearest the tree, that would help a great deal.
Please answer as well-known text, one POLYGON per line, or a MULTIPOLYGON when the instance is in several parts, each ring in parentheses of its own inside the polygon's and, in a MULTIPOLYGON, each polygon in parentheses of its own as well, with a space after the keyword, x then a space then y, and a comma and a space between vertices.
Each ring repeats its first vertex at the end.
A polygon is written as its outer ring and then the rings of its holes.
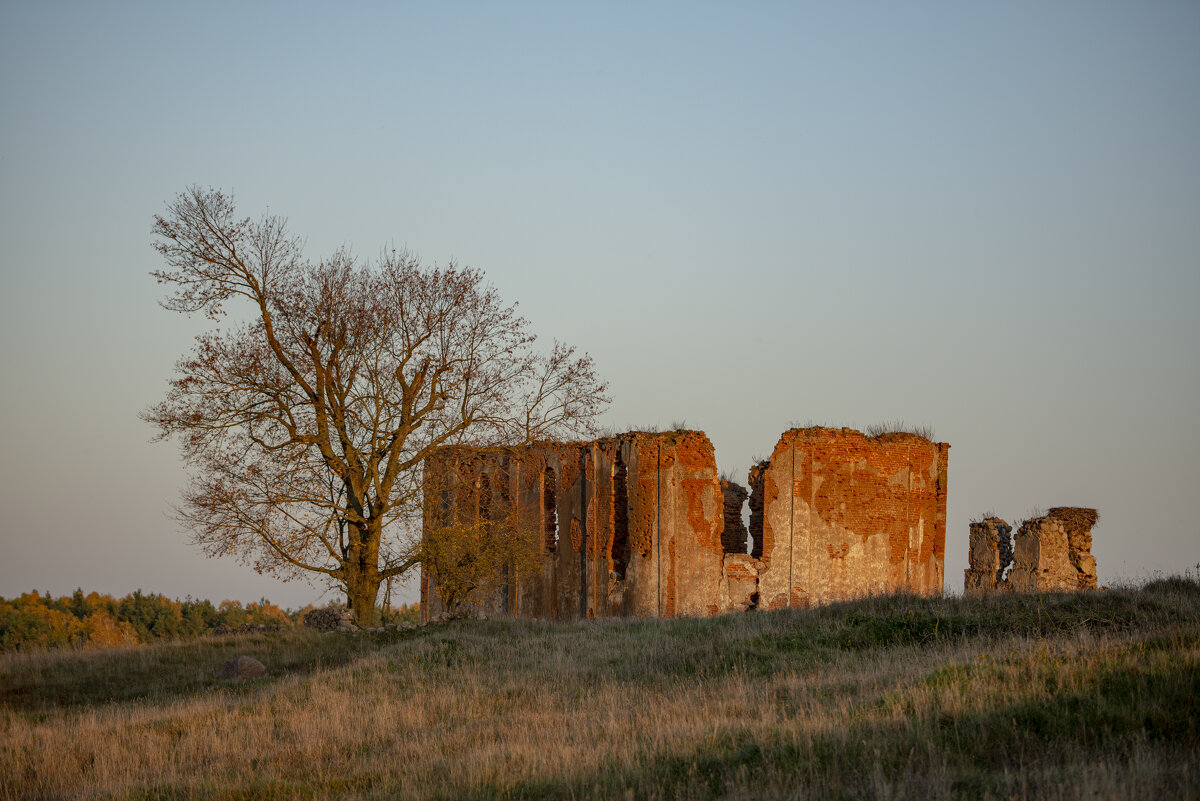
MULTIPOLYGON (((451 490, 452 502, 470 492, 475 474, 506 476, 509 502, 524 510, 524 519, 557 530, 557 537, 546 536, 542 570, 485 594, 476 601, 484 612, 577 620, 727 610, 724 496, 713 445, 702 432, 448 450, 426 469, 431 476, 452 475, 463 464, 473 466, 451 490)), ((436 588, 437 577, 422 571, 427 616, 442 612, 436 588)))

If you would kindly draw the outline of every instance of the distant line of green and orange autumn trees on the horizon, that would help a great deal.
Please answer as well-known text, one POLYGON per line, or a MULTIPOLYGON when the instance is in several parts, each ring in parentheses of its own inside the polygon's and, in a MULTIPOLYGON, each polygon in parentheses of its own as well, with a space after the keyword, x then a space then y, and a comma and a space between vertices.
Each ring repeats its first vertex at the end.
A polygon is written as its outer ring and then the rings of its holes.
MULTIPOLYGON (((0 651, 46 648, 110 648, 139 645, 209 634, 300 626, 313 607, 281 609, 266 598, 242 606, 240 601, 187 597, 173 601, 156 592, 137 590, 122 598, 82 589, 72 595, 49 592, 0 597, 0 651)), ((388 619, 415 618, 413 607, 390 610, 388 619)))

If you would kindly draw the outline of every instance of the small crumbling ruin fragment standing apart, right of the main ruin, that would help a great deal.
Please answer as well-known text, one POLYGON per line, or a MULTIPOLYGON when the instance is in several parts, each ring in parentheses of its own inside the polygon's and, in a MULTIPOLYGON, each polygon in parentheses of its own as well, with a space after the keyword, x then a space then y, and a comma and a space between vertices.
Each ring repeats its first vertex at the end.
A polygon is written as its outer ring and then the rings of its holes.
POLYGON ((1056 506, 1022 523, 1015 536, 998 517, 972 523, 965 594, 1094 590, 1098 519, 1094 508, 1056 506))

